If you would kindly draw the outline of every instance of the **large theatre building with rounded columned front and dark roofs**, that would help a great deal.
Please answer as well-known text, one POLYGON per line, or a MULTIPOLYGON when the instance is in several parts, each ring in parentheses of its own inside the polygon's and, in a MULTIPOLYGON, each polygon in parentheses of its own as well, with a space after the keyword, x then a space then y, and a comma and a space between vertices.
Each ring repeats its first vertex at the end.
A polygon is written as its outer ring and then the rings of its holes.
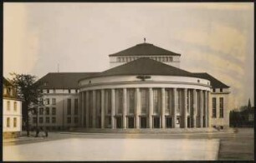
POLYGON ((180 69, 180 57, 181 54, 141 43, 111 54, 111 68, 105 72, 49 73, 39 81, 46 83, 42 86, 46 98, 61 96, 59 101, 65 103, 57 108, 62 126, 102 129, 228 127, 229 86, 207 73, 180 69), (72 81, 72 74, 79 77, 72 81), (61 75, 69 78, 74 86, 68 86, 68 81, 65 86, 58 86, 60 79, 57 78, 61 75), (77 91, 64 93, 65 89, 77 91), (76 106, 74 97, 79 103, 76 106), (76 116, 71 114, 75 110, 76 116), (76 123, 72 122, 73 116, 76 123))

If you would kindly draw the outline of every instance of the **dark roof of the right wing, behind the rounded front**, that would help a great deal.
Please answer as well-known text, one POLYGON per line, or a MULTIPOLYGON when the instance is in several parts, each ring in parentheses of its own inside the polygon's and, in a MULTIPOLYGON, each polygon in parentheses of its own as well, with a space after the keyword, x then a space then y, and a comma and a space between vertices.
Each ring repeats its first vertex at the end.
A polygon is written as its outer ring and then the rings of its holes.
POLYGON ((226 84, 224 84, 222 81, 218 81, 218 79, 212 77, 211 75, 207 74, 206 72, 202 73, 193 73, 196 77, 200 77, 203 79, 207 79, 211 81, 212 88, 229 88, 226 84))

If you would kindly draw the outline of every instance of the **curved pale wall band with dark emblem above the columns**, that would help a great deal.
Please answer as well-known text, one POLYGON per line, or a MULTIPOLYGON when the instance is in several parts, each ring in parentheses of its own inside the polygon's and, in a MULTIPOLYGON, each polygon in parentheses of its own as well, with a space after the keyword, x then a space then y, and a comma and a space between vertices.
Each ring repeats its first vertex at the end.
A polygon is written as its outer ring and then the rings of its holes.
POLYGON ((79 81, 79 91, 123 87, 176 87, 210 91, 210 81, 197 77, 151 76, 151 79, 146 79, 146 81, 141 81, 136 77, 111 76, 84 79, 79 81))

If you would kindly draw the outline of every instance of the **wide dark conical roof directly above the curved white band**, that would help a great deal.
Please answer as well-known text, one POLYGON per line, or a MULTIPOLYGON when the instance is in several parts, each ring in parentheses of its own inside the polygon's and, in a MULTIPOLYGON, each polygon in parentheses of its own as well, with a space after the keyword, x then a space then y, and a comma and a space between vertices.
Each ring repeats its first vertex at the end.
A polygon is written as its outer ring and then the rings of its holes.
MULTIPOLYGON (((116 75, 163 75, 163 76, 182 76, 195 77, 191 72, 184 71, 177 67, 157 62, 148 57, 141 57, 133 62, 125 63, 119 67, 114 67, 105 72, 100 72, 91 77, 105 77, 116 75)), ((86 77, 90 78, 90 77, 86 77)))

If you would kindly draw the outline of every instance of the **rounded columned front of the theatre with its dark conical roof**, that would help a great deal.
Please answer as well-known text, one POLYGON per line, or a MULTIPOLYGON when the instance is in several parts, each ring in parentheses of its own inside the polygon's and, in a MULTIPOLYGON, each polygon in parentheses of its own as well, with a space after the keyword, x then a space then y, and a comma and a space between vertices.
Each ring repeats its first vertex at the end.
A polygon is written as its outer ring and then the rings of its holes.
POLYGON ((79 80, 86 128, 208 127, 210 81, 143 57, 79 80))

